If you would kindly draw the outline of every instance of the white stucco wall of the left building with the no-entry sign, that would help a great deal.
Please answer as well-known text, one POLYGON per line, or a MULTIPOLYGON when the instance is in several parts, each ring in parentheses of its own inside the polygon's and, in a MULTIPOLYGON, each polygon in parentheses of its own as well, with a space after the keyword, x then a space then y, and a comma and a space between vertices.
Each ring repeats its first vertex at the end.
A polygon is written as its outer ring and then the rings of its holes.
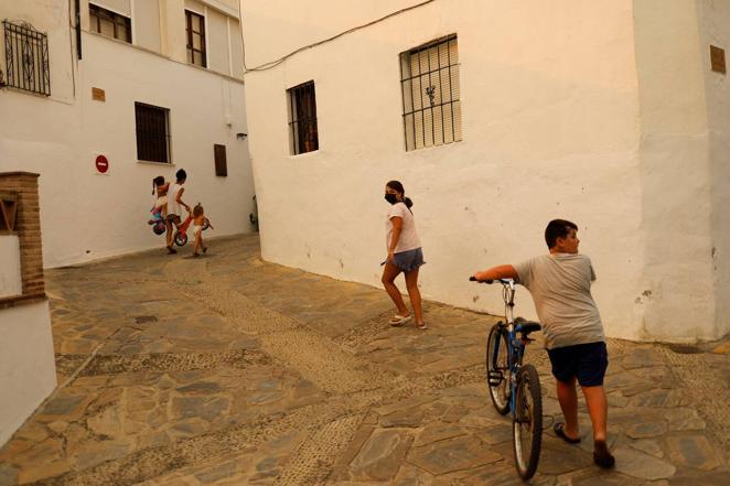
POLYGON ((49 33, 51 97, 0 90, 0 172, 41 174, 46 267, 163 247, 147 225, 152 179, 174 180, 178 169, 187 172, 184 201, 202 202, 215 227, 207 237, 253 230, 248 141, 236 137, 248 131, 243 79, 228 75, 227 52, 214 54, 226 73, 186 65, 184 0, 160 0, 159 13, 164 55, 85 31, 77 61, 65 2, 0 0, 0 17, 49 33), (93 100, 92 88, 104 89, 106 101, 93 100), (137 160, 136 101, 170 110, 172 164, 137 160), (215 175, 216 143, 227 148, 227 177, 215 175), (104 175, 99 154, 109 160, 104 175))

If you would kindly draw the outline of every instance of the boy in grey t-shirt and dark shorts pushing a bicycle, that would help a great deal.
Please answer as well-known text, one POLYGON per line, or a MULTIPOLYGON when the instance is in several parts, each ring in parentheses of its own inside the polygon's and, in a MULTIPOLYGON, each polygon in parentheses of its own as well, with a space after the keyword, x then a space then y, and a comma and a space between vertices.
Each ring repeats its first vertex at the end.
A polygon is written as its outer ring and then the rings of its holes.
POLYGON ((606 445, 608 400, 603 376, 609 365, 601 316, 591 296, 595 273, 591 260, 578 253, 578 226, 554 219, 545 228, 548 255, 517 266, 503 264, 474 273, 476 280, 514 279, 529 290, 543 324, 545 346, 557 381, 565 423, 556 423, 557 436, 580 442, 576 381, 586 397, 593 424, 593 461, 613 467, 606 445))

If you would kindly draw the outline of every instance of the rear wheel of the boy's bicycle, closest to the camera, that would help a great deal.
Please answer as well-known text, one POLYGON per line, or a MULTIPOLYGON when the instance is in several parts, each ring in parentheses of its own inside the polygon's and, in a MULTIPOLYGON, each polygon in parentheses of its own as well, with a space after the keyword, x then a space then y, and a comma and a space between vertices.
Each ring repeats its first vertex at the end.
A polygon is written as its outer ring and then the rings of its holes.
POLYGON ((515 466, 523 479, 529 479, 537 469, 543 443, 543 397, 540 379, 533 365, 517 371, 515 418, 512 424, 515 466))

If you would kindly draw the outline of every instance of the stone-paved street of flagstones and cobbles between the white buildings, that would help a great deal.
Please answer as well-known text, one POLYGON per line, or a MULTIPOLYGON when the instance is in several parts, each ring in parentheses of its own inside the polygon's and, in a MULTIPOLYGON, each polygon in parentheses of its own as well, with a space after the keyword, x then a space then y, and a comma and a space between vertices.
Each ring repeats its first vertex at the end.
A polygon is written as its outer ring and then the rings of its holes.
MULTIPOLYGON (((60 386, 0 451, 0 485, 520 484, 483 380, 494 317, 426 303, 428 331, 394 328, 385 292, 262 262, 256 236, 190 251, 47 272, 60 386)), ((584 407, 580 445, 552 434, 533 346, 532 483, 728 484, 728 350, 611 339, 604 472, 584 407)))

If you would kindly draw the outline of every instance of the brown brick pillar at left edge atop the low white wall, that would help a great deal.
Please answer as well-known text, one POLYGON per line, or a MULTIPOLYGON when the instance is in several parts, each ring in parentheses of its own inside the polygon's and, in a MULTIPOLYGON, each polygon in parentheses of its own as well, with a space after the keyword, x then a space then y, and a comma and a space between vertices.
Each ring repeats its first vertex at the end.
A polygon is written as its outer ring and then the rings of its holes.
POLYGON ((37 177, 39 174, 30 172, 0 172, 0 192, 15 194, 18 198, 13 229, 20 241, 20 272, 25 296, 45 292, 37 177))

